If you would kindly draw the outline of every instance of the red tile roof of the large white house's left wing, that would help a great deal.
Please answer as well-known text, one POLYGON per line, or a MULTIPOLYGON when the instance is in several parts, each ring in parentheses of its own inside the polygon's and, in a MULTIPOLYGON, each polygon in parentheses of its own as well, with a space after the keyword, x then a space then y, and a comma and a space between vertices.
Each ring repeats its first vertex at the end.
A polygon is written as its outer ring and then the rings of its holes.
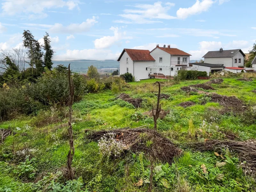
POLYGON ((120 61, 124 52, 127 52, 133 61, 155 61, 155 59, 149 54, 149 50, 139 49, 124 49, 117 61, 120 61))

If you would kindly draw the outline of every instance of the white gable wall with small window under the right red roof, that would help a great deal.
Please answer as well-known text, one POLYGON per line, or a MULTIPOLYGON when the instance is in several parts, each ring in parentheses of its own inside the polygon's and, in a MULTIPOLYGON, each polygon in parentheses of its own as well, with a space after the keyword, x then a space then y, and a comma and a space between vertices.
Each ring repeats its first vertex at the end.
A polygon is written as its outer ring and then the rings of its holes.
POLYGON ((156 48, 150 55, 156 60, 154 62, 155 66, 170 66, 171 64, 171 55, 161 49, 156 48), (163 58, 162 63, 159 62, 159 57, 163 58))

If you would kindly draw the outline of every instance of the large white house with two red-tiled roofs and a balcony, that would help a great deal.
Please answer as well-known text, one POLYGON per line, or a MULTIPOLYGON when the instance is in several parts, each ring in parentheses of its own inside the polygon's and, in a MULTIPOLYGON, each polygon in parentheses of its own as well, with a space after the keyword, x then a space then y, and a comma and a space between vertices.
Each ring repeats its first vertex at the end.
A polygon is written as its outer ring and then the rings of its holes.
POLYGON ((137 80, 152 77, 168 78, 178 70, 187 69, 190 54, 176 48, 159 47, 149 50, 124 49, 117 61, 120 74, 132 73, 137 80))

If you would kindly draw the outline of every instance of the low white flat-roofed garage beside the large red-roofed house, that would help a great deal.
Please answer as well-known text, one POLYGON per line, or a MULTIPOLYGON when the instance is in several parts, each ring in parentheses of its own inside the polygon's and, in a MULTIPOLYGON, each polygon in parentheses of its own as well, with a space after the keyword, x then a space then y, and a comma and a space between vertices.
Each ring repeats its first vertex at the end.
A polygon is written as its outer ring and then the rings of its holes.
POLYGON ((225 66, 223 64, 211 64, 211 63, 189 63, 191 70, 206 71, 207 75, 210 73, 222 71, 225 66))

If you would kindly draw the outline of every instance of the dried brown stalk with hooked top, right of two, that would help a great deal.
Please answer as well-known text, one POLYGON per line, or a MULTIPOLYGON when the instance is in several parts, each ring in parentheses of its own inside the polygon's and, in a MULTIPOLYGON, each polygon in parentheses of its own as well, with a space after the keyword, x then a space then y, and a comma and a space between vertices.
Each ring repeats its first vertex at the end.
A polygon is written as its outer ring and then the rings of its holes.
POLYGON ((156 104, 156 113, 154 112, 154 106, 152 107, 152 115, 154 118, 154 135, 153 135, 153 145, 152 145, 152 153, 153 157, 150 161, 151 163, 151 173, 150 173, 150 184, 148 188, 148 192, 152 191, 153 187, 153 170, 154 170, 154 163, 156 162, 156 129, 157 129, 157 119, 159 117, 159 113, 161 111, 161 105, 160 105, 160 92, 161 92, 161 85, 160 82, 157 81, 155 84, 158 84, 158 96, 157 96, 157 104, 156 104))

